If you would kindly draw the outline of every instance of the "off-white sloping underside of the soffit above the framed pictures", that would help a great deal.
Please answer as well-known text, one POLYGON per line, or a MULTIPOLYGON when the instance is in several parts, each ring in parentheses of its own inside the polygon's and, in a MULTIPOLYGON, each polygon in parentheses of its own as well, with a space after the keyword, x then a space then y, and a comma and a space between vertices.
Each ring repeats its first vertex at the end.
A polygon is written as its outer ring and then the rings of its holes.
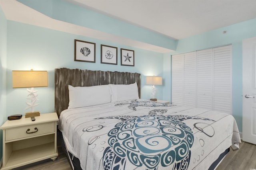
POLYGON ((136 41, 134 39, 128 39, 125 37, 104 33, 102 31, 97 31, 72 23, 55 20, 32 8, 29 8, 28 6, 16 0, 0 0, 0 6, 4 11, 7 20, 27 23, 30 25, 36 25, 39 27, 45 27, 77 35, 83 35, 86 37, 92 37, 114 43, 124 44, 140 49, 155 51, 158 53, 169 53, 173 51, 171 49, 166 49, 157 45, 144 43, 142 41, 136 41))

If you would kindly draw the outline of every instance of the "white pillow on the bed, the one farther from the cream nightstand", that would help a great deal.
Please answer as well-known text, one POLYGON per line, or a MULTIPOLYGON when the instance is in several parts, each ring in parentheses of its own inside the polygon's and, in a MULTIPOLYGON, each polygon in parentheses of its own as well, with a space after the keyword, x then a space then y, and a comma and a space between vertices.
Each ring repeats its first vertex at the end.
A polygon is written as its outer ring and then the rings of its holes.
POLYGON ((137 82, 133 84, 110 84, 111 102, 139 99, 137 82))

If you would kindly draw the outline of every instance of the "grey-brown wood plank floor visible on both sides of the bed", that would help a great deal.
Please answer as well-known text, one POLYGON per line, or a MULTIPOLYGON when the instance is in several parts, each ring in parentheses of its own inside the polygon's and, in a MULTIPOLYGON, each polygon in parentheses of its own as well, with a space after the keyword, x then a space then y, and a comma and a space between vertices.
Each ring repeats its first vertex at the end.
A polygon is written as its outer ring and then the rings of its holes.
MULTIPOLYGON (((242 141, 239 146, 239 150, 230 149, 216 170, 256 170, 256 145, 242 141)), ((58 152, 55 161, 48 159, 12 170, 72 170, 60 147, 58 152)))

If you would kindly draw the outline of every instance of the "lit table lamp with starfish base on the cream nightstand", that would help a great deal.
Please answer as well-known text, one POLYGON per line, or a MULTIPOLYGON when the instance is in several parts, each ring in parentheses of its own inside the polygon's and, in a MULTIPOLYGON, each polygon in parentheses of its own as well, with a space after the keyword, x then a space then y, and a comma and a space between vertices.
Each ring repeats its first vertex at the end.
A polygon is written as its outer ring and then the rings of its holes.
MULTIPOLYGON (((34 107, 37 106, 36 104, 37 96, 35 93, 38 92, 37 90, 34 91, 34 87, 47 87, 48 86, 48 77, 47 71, 12 71, 12 88, 28 88, 28 100, 31 102, 26 102, 28 107, 26 109, 31 109, 31 112, 26 113, 26 115, 31 116, 38 116, 40 115, 39 111, 34 111, 34 107), (32 113, 32 114, 31 114, 32 113), (37 113, 37 114, 36 114, 37 113)), ((26 116, 25 115, 25 116, 26 116)), ((31 117, 28 116, 28 117, 31 117)))

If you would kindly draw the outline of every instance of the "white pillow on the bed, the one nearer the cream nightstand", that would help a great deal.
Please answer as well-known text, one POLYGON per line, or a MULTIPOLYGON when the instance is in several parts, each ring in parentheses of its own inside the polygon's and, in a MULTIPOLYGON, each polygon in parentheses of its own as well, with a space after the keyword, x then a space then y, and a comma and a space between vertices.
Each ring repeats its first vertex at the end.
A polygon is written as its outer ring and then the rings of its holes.
POLYGON ((110 86, 73 87, 68 85, 68 109, 94 106, 111 102, 110 86))

